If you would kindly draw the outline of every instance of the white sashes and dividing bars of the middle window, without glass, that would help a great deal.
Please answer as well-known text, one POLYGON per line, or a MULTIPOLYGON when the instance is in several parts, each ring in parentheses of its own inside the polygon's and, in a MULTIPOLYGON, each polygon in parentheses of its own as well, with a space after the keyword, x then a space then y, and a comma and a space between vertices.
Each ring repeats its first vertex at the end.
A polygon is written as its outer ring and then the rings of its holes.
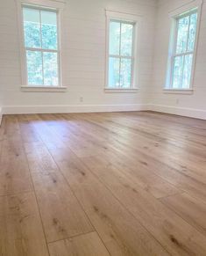
POLYGON ((124 20, 120 20, 120 19, 115 19, 115 18, 110 18, 109 22, 118 22, 120 24, 120 34, 119 34, 119 54, 120 55, 110 55, 110 24, 109 24, 109 58, 108 58, 108 81, 107 81, 107 88, 115 88, 115 89, 131 89, 132 88, 132 84, 133 84, 133 73, 134 73, 134 47, 135 47, 135 23, 134 22, 130 22, 130 21, 124 21, 124 20), (126 56, 126 55, 121 55, 121 42, 122 42, 122 24, 130 24, 132 25, 132 42, 131 42, 131 56, 126 56), (114 84, 110 85, 110 58, 117 58, 119 59, 119 86, 115 86, 114 84), (127 60, 131 60, 131 81, 130 81, 130 86, 129 87, 124 87, 124 86, 120 86, 120 80, 121 80, 121 60, 122 59, 127 59, 127 60))

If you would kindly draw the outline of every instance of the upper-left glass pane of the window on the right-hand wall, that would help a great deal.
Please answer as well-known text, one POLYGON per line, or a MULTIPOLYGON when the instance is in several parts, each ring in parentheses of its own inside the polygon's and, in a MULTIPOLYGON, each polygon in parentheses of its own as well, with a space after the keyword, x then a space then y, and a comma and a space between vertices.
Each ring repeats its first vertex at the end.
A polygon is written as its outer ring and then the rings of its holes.
POLYGON ((182 54, 187 51, 187 43, 188 43, 188 22, 189 16, 180 18, 178 20, 177 25, 177 48, 176 53, 182 54))

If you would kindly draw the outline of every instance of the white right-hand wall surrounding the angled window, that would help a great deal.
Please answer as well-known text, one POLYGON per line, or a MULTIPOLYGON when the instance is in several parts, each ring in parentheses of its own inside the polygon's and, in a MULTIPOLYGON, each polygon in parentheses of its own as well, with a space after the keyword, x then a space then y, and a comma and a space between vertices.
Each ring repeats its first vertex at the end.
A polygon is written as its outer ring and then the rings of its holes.
POLYGON ((153 110, 177 113, 206 119, 206 1, 202 5, 202 17, 195 64, 194 93, 191 95, 163 92, 167 72, 170 19, 168 12, 188 4, 191 0, 160 0, 155 26, 153 59, 153 85, 150 106, 153 110))

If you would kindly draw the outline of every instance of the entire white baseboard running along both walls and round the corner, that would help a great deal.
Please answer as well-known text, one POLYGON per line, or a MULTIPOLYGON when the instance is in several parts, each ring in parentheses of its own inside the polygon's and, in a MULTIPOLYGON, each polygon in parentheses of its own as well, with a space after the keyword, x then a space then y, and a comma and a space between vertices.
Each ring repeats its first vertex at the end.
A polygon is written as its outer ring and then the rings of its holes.
POLYGON ((96 112, 127 112, 151 110, 161 113, 172 113, 181 116, 193 117, 206 120, 206 110, 163 106, 154 104, 132 105, 67 105, 67 106, 4 106, 0 109, 0 123, 2 115, 15 113, 96 113, 96 112))

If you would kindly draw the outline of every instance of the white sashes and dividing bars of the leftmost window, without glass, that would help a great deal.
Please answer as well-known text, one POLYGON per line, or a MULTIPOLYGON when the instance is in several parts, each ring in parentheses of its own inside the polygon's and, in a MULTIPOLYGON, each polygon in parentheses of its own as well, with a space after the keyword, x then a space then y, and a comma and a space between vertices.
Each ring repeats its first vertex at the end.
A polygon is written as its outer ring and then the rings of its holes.
MULTIPOLYGON (((50 8, 44 8, 44 7, 37 7, 37 6, 33 6, 30 4, 23 4, 22 5, 22 13, 24 11, 24 8, 29 8, 29 9, 34 9, 39 11, 39 25, 40 25, 40 43, 41 43, 41 47, 40 48, 28 48, 25 46, 25 30, 24 30, 24 18, 23 18, 23 31, 24 31, 24 48, 25 48, 25 70, 26 70, 26 82, 28 86, 58 86, 60 87, 60 36, 59 36, 59 12, 50 8), (48 11, 48 12, 53 12, 56 14, 56 26, 57 26, 57 49, 47 49, 47 48, 42 48, 42 22, 41 22, 41 11, 48 11), (29 84, 29 80, 28 80, 28 66, 27 66, 27 57, 26 57, 26 52, 27 51, 34 51, 34 52, 40 52, 41 53, 41 60, 42 60, 42 79, 43 79, 43 83, 42 84, 29 84), (45 84, 45 76, 44 76, 44 57, 43 57, 43 53, 56 53, 57 54, 57 74, 58 74, 58 85, 46 85, 45 84)), ((23 16, 24 17, 24 16, 23 16)))

